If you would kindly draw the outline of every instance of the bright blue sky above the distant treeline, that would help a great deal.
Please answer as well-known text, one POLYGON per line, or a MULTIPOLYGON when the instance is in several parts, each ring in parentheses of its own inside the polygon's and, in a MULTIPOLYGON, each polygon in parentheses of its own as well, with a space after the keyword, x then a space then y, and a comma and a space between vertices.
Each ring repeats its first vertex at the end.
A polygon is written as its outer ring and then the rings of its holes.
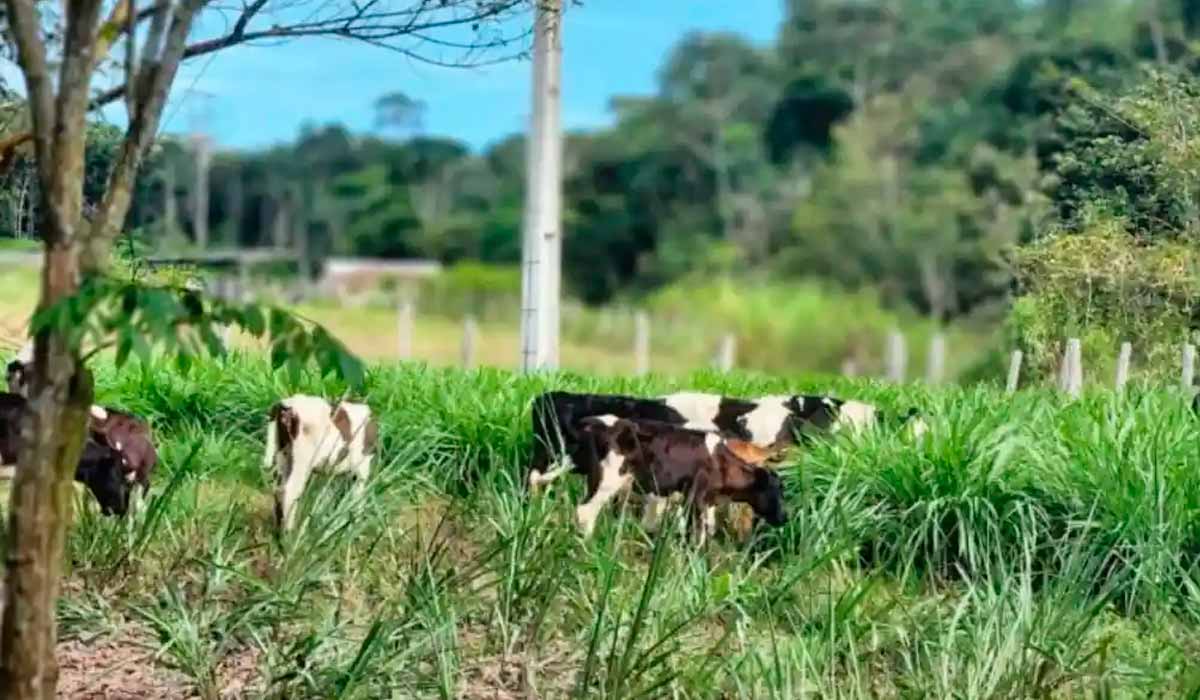
MULTIPOLYGON (((659 66, 686 32, 736 31, 766 44, 781 17, 782 0, 586 0, 565 18, 564 127, 607 125, 612 96, 653 92, 659 66)), ((437 68, 332 40, 236 47, 180 70, 163 128, 206 122, 222 149, 290 140, 305 122, 366 132, 374 98, 398 90, 426 102, 425 133, 478 149, 524 128, 529 71, 528 61, 437 68)))

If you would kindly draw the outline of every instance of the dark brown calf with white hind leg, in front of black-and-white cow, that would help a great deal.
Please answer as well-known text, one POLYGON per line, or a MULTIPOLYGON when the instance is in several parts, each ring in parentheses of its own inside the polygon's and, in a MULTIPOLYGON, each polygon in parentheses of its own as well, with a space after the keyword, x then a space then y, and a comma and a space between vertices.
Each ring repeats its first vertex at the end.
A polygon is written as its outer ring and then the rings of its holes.
POLYGON ((592 457, 588 497, 576 508, 584 537, 605 504, 631 487, 660 499, 684 495, 701 544, 721 503, 746 503, 772 526, 787 521, 779 474, 742 460, 715 432, 608 414, 582 419, 578 433, 581 451, 592 457))

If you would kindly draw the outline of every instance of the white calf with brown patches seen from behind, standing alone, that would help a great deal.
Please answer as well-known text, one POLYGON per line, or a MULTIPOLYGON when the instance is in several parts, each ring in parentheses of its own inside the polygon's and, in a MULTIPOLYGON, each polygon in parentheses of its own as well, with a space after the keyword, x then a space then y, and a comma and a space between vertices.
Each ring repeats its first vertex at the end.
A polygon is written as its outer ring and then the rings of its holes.
POLYGON ((298 394, 272 406, 268 415, 263 461, 277 475, 276 525, 295 525, 296 502, 314 469, 353 474, 355 492, 362 493, 379 431, 366 403, 330 407, 319 396, 298 394))

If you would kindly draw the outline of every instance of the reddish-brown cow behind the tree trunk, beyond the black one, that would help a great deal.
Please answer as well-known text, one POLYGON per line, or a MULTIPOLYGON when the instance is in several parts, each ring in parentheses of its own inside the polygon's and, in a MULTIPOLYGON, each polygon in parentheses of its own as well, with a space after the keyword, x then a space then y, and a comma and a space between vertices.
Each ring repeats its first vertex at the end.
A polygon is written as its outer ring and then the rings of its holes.
MULTIPOLYGON (((29 396, 32 363, 34 345, 26 342, 8 363, 6 378, 10 391, 29 396)), ((139 495, 144 496, 150 489, 150 475, 158 463, 149 424, 126 411, 94 405, 88 412, 88 431, 92 441, 120 453, 125 479, 138 484, 139 495)))

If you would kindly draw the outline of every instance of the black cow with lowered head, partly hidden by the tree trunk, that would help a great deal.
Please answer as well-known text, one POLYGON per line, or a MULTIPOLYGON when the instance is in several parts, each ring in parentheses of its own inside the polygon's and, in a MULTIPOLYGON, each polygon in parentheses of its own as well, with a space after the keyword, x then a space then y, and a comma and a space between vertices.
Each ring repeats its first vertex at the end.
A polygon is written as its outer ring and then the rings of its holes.
MULTIPOLYGON (((0 393, 0 479, 16 475, 20 451, 20 421, 29 402, 17 394, 0 393)), ((89 433, 84 438, 74 480, 83 484, 100 503, 104 515, 126 515, 133 485, 126 478, 128 468, 120 450, 98 442, 89 433)))

